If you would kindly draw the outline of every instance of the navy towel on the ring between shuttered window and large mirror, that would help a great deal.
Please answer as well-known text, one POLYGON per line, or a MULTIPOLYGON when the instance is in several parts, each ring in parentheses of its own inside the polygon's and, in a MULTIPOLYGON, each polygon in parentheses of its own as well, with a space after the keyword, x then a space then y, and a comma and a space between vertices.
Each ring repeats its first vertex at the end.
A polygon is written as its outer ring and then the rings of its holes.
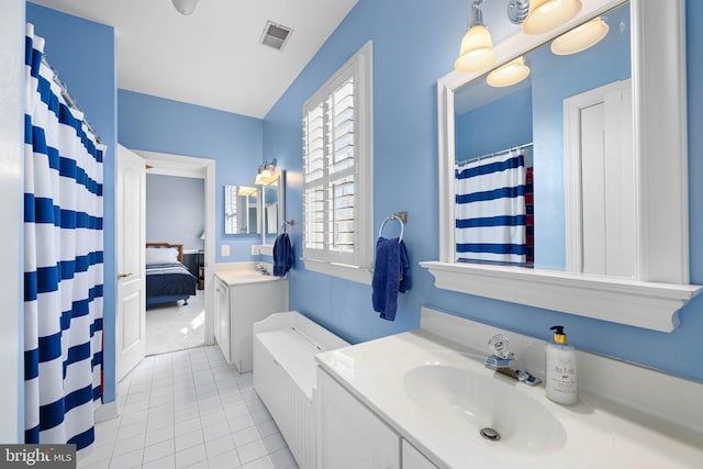
POLYGON ((376 242, 376 265, 371 280, 373 311, 381 313, 383 320, 394 321, 398 292, 410 290, 412 283, 405 243, 398 238, 379 237, 376 242))

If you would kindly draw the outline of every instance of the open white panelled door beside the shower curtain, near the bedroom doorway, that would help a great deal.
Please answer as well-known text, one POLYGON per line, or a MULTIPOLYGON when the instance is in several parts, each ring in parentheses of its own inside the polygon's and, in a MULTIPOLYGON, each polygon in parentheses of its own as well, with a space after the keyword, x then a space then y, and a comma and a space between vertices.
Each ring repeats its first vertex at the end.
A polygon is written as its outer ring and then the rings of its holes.
POLYGON ((118 381, 143 358, 146 348, 144 159, 118 145, 118 381))

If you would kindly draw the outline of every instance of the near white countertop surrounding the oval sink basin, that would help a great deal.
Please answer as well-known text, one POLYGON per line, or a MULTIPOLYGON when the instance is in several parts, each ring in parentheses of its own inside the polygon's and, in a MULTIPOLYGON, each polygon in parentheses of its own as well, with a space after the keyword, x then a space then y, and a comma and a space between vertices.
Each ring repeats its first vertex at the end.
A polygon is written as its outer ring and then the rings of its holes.
MULTIPOLYGON (((316 356, 361 402, 387 421, 440 468, 701 468, 703 435, 580 392, 577 405, 545 397, 544 384, 528 387, 483 366, 483 356, 417 330, 316 356), (548 448, 513 449, 457 432, 409 397, 405 373, 420 366, 447 365, 500 380, 531 398, 561 424, 566 438, 548 448)), ((633 383, 640 387, 644 383, 633 383)), ((662 395, 661 399, 677 399, 662 395)), ((701 402, 703 405, 703 402, 701 402)), ((534 432, 540 432, 536 425, 534 432)), ((502 445, 503 444, 503 445, 502 445)))

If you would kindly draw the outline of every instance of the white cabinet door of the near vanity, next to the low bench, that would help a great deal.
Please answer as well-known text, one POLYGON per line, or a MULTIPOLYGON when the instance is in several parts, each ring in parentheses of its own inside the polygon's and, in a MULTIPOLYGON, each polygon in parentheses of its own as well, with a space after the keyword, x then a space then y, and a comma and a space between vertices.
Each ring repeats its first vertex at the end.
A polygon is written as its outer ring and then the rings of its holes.
POLYGON ((317 467, 400 469, 400 436, 317 368, 317 467))

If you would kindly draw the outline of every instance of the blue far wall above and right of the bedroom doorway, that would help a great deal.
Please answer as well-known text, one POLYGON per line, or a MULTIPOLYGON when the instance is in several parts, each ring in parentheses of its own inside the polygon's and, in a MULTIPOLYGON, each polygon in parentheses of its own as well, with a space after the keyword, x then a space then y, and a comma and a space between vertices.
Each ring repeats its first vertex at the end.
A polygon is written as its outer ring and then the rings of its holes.
POLYGON ((261 163, 260 119, 168 99, 118 90, 119 142, 131 149, 171 153, 215 160, 215 261, 252 258, 260 235, 224 234, 224 186, 252 186, 261 163), (230 245, 230 256, 220 246, 230 245))

